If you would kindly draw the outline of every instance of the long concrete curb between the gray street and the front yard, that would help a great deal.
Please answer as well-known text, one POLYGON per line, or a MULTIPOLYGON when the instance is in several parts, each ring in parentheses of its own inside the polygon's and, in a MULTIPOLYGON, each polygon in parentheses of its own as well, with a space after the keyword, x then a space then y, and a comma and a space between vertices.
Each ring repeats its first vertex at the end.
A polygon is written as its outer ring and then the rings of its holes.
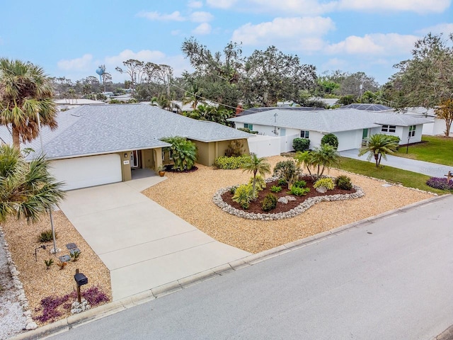
MULTIPOLYGON (((222 276, 225 273, 230 273, 231 271, 237 271, 239 269, 253 266, 256 263, 260 263, 261 261, 266 261, 268 259, 272 259, 275 256, 280 256, 285 254, 289 251, 294 251, 300 249, 304 246, 309 246, 310 244, 314 244, 316 242, 321 242, 323 239, 328 239, 330 237, 335 237, 338 234, 342 234, 343 232, 347 232, 349 229, 357 228, 362 225, 372 224, 377 220, 381 220, 384 217, 389 217, 391 215, 395 215, 401 212, 408 212, 413 208, 418 208, 423 205, 432 204, 437 200, 445 199, 451 194, 442 195, 442 196, 435 196, 432 198, 428 198, 426 200, 421 200, 420 202, 413 203, 411 205, 406 205, 402 208, 390 210, 387 212, 383 212, 382 214, 375 215, 372 217, 365 218, 364 220, 360 220, 357 222, 352 222, 348 225, 342 225, 340 227, 328 230, 326 232, 321 232, 311 237, 306 237, 305 239, 299 239, 294 242, 290 242, 287 244, 283 244, 282 246, 277 246, 273 249, 268 249, 265 251, 261 251, 258 254, 253 254, 250 256, 246 256, 242 259, 231 261, 229 263, 225 263, 221 266, 217 266, 207 271, 202 271, 200 273, 193 274, 186 278, 181 278, 179 280, 166 283, 165 285, 160 285, 159 287, 151 288, 150 290, 146 290, 143 293, 139 293, 136 295, 132 295, 130 297, 126 297, 122 300, 117 300, 114 302, 110 302, 107 305, 101 305, 99 307, 95 307, 91 310, 87 310, 86 312, 82 312, 80 314, 74 314, 70 317, 65 319, 59 320, 52 324, 47 324, 43 327, 39 327, 33 331, 28 331, 26 333, 18 334, 17 336, 13 336, 10 340, 23 340, 23 339, 45 339, 48 336, 53 336, 55 334, 62 333, 63 331, 69 331, 69 329, 79 327, 83 324, 88 322, 95 321, 97 319, 102 319, 103 317, 107 317, 112 314, 116 314, 117 312, 122 312, 123 310, 127 310, 131 307, 142 305, 143 303, 149 302, 154 300, 158 297, 163 297, 165 295, 169 295, 172 293, 176 293, 179 290, 183 290, 184 288, 188 288, 191 285, 195 285, 205 280, 210 280, 216 276, 222 276)), ((452 328, 452 327, 450 327, 452 328)), ((453 333, 453 329, 447 329, 446 331, 451 331, 453 333)), ((442 334, 440 334, 442 335, 442 334)), ((450 338, 436 338, 439 340, 447 340, 450 338)), ((451 338, 453 340, 453 337, 451 338)))

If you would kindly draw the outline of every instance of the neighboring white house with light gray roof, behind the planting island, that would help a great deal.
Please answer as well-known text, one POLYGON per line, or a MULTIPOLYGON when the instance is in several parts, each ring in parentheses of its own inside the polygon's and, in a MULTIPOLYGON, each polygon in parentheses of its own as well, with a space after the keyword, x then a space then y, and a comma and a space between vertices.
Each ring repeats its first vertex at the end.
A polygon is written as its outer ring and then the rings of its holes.
MULTIPOLYGON (((421 141, 424 118, 376 113, 355 109, 289 111, 274 109, 230 118, 236 128, 258 131, 258 135, 280 138, 280 152, 292 151, 294 138, 310 140, 310 148, 319 147, 328 133, 338 137, 338 151, 357 149, 370 135, 385 133, 398 136, 404 145, 421 141), (410 136, 410 138, 409 138, 410 136)), ((249 140, 249 143, 251 140, 249 140)))

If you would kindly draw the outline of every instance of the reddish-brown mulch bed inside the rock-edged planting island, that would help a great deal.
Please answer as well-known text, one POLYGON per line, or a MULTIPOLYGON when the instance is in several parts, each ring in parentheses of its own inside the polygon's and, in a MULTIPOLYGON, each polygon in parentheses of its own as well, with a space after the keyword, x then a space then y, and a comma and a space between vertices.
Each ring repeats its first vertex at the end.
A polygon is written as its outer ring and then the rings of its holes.
POLYGON ((337 194, 344 195, 346 193, 355 193, 355 189, 343 190, 343 189, 340 189, 337 187, 333 188, 333 190, 327 191, 326 193, 319 193, 313 187, 314 180, 311 179, 311 177, 304 177, 304 178, 302 178, 302 180, 306 181, 306 188, 310 189, 310 191, 308 193, 306 193, 305 196, 291 195, 290 193, 288 193, 287 185, 281 186, 282 191, 280 191, 280 193, 273 193, 272 191, 270 191, 270 188, 272 188, 272 186, 279 186, 279 184, 278 184, 278 181, 271 181, 271 182, 267 183, 267 186, 265 189, 263 189, 262 191, 258 191, 258 198, 256 198, 256 200, 251 201, 250 206, 248 207, 247 210, 244 210, 241 207, 241 205, 239 205, 239 203, 234 202, 234 200, 233 200, 234 194, 231 193, 230 191, 226 191, 226 193, 224 193, 222 195, 222 199, 224 200, 225 203, 228 203, 229 205, 231 205, 231 207, 236 208, 238 210, 243 210, 246 212, 253 212, 255 214, 262 214, 262 213, 277 214, 279 212, 287 212, 293 208, 296 208, 299 204, 303 203, 304 200, 306 200, 307 198, 316 197, 316 196, 331 196, 331 195, 337 195, 337 194), (289 202, 286 204, 277 203, 277 206, 273 210, 266 212, 266 211, 263 211, 263 208, 261 208, 261 204, 262 204, 265 196, 267 196, 269 193, 275 195, 277 197, 277 200, 279 198, 285 197, 285 196, 291 196, 291 197, 295 198, 295 200, 289 200, 289 202))

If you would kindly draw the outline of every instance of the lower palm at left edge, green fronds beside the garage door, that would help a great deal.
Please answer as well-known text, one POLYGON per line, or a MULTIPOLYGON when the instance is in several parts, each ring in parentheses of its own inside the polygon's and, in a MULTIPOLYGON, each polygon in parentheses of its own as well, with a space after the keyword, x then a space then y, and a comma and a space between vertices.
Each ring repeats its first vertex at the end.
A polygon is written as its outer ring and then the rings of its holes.
POLYGON ((9 216, 36 222, 64 198, 62 186, 41 155, 26 162, 16 147, 0 146, 0 222, 9 216))

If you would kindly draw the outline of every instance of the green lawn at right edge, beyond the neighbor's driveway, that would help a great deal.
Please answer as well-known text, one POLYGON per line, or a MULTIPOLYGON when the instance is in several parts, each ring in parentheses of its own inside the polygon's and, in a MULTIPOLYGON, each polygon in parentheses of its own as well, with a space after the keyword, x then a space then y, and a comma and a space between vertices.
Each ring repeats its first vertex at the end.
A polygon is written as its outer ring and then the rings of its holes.
POLYGON ((408 154, 406 154, 406 147, 400 147, 394 155, 453 166, 452 137, 423 135, 422 141, 423 143, 418 145, 409 145, 408 154))

